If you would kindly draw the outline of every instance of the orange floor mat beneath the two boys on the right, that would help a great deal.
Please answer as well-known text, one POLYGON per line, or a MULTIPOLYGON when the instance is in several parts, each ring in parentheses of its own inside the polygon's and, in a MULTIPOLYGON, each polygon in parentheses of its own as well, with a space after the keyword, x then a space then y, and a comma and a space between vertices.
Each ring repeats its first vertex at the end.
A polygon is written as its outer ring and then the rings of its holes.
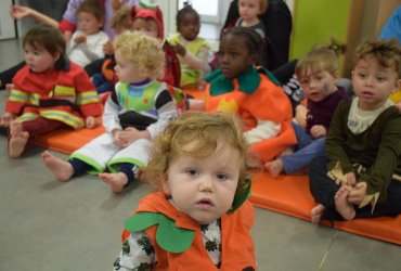
MULTIPOLYGON (((257 172, 253 177, 250 202, 255 206, 310 220, 315 202, 309 192, 308 176, 272 178, 267 172, 257 172)), ((334 228, 401 245, 401 215, 336 221, 334 228)))

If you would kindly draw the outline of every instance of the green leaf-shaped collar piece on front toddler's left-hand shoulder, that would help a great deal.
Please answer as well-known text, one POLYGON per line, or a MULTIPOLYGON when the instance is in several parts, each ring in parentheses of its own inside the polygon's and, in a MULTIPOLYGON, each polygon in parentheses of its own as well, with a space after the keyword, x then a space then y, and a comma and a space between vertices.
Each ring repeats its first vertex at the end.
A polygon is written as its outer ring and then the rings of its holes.
POLYGON ((157 224, 156 242, 169 253, 182 253, 191 247, 195 231, 178 228, 176 221, 159 212, 138 212, 125 222, 129 232, 144 231, 157 224))

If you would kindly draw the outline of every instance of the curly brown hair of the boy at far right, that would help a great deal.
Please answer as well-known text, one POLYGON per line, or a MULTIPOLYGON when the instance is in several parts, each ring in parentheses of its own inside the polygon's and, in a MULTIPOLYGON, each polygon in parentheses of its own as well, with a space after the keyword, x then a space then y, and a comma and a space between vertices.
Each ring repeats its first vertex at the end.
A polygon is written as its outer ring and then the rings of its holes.
POLYGON ((353 64, 359 60, 374 57, 385 68, 394 67, 401 78, 401 46, 396 39, 365 40, 355 50, 353 64))

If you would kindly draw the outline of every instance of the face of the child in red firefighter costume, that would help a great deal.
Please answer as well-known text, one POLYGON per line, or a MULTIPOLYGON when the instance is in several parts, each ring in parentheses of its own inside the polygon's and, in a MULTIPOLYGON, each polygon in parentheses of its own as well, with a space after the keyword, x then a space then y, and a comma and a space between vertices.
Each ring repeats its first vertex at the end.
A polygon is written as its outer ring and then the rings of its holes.
POLYGON ((25 44, 24 50, 25 62, 30 67, 30 70, 35 73, 43 73, 53 69, 55 62, 60 59, 60 53, 52 55, 43 48, 35 49, 29 44, 25 44))

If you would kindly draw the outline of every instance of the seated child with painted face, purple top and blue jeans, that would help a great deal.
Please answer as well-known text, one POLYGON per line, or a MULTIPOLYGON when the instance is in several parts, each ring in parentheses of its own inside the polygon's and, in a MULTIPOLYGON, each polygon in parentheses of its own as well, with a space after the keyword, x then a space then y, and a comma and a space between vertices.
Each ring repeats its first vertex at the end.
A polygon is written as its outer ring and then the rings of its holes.
POLYGON ((336 43, 316 46, 298 61, 295 73, 308 99, 306 129, 293 122, 298 144, 294 153, 264 164, 272 177, 283 171, 297 172, 313 157, 325 154, 325 137, 334 111, 339 101, 347 98, 346 91, 336 86, 339 77, 336 49, 339 48, 336 43))

